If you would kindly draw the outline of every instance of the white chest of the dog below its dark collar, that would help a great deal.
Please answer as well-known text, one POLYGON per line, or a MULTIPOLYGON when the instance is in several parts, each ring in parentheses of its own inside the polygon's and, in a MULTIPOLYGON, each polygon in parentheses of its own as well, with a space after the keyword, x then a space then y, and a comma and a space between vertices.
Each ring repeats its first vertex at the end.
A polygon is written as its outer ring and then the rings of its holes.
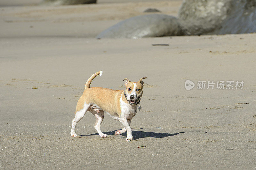
POLYGON ((126 119, 132 119, 132 117, 135 116, 137 113, 137 105, 133 106, 125 103, 122 100, 122 96, 120 98, 120 106, 121 106, 121 117, 124 117, 126 119))

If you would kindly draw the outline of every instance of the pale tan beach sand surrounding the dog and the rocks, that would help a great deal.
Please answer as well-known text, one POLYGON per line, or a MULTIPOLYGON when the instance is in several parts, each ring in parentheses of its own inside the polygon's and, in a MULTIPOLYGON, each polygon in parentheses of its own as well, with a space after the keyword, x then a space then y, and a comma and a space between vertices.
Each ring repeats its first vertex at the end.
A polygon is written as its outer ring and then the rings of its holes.
POLYGON ((0 168, 254 169, 256 34, 94 38, 148 7, 176 15, 180 4, 1 7, 0 168), (70 137, 76 102, 99 70, 92 86, 119 90, 124 78, 148 77, 131 142, 114 136, 122 125, 107 115, 101 130, 110 137, 100 138, 89 112, 70 137), (244 87, 187 91, 187 79, 244 87))

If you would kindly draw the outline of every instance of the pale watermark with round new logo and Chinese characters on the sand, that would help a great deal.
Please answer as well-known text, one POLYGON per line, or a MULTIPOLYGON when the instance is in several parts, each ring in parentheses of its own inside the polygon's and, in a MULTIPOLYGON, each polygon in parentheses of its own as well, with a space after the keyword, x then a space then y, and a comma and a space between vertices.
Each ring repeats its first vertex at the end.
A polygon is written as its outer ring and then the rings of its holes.
MULTIPOLYGON (((232 80, 228 80, 228 81, 197 81, 197 86, 196 89, 197 90, 208 90, 208 89, 219 89, 219 90, 223 90, 223 89, 243 89, 243 85, 244 85, 244 81, 232 81, 232 80)), ((186 90, 191 90, 193 89, 195 86, 194 82, 191 80, 186 80, 185 82, 185 88, 186 90)))

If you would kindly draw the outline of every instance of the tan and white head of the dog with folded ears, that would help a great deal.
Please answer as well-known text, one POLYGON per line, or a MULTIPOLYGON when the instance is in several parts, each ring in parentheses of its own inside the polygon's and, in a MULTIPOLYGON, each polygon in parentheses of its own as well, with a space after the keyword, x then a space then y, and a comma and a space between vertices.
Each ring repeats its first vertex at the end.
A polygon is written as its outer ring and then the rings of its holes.
MULTIPOLYGON (((143 77, 137 82, 131 82, 128 78, 125 78, 124 80, 125 87, 126 89, 124 90, 124 94, 126 97, 126 100, 131 104, 131 105, 136 105, 139 103, 140 97, 142 96, 142 88, 143 88, 143 81, 142 79, 147 78, 143 77)), ((123 80, 123 81, 124 81, 123 80)))

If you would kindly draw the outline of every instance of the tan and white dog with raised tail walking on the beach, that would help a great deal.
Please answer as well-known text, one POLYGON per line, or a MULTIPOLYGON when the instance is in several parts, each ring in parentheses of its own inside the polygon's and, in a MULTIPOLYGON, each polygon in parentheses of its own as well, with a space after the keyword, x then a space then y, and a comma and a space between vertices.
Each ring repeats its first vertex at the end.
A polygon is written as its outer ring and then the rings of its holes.
POLYGON ((84 93, 76 105, 76 115, 72 121, 70 136, 77 137, 75 132, 76 124, 84 117, 87 111, 90 111, 96 118, 94 127, 100 137, 108 137, 108 135, 102 133, 100 130, 100 124, 103 121, 105 112, 124 125, 123 129, 115 132, 115 135, 120 135, 127 131, 126 141, 131 141, 133 137, 130 123, 132 117, 136 115, 137 106, 142 96, 142 79, 147 77, 141 78, 138 82, 131 82, 128 78, 125 78, 125 90, 90 87, 92 79, 99 74, 101 76, 102 71, 93 74, 85 84, 84 93))

